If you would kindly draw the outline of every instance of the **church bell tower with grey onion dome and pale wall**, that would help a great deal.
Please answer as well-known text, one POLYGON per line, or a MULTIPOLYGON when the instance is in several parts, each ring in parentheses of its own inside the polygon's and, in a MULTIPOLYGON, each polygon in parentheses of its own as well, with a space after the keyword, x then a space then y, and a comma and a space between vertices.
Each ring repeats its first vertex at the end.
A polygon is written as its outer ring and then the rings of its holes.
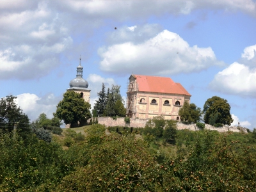
POLYGON ((76 78, 72 79, 69 83, 70 88, 67 91, 74 91, 76 93, 80 93, 81 97, 83 97, 84 101, 90 102, 90 91, 88 89, 88 82, 83 79, 83 67, 81 66, 81 58, 79 66, 76 70, 76 78))

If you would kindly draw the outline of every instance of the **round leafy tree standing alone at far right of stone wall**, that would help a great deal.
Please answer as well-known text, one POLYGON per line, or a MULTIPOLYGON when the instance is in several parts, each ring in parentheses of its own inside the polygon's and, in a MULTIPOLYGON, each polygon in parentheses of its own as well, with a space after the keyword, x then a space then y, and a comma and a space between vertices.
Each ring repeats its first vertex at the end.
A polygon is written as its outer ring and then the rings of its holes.
POLYGON ((230 105, 226 99, 218 96, 206 100, 203 113, 205 124, 209 124, 211 115, 213 118, 216 115, 215 124, 230 125, 233 122, 232 116, 230 115, 230 105))

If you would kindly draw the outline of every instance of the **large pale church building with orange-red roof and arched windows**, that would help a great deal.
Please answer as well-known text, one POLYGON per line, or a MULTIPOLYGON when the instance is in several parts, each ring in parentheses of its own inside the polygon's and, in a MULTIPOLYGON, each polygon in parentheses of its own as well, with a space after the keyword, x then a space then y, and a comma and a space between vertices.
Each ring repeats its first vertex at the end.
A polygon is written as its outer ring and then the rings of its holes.
POLYGON ((127 90, 127 116, 179 120, 179 109, 191 95, 170 77, 131 75, 127 90))

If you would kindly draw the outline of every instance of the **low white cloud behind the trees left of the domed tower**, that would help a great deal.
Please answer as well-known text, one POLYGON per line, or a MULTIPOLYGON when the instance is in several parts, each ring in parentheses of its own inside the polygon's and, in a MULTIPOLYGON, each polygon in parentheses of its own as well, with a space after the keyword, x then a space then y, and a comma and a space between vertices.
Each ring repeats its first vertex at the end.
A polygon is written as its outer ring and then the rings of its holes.
POLYGON ((38 97, 33 93, 22 93, 17 95, 16 101, 22 111, 33 121, 41 113, 45 113, 48 118, 52 118, 52 113, 56 111, 56 106, 62 99, 61 97, 55 97, 52 93, 44 95, 44 97, 38 97))

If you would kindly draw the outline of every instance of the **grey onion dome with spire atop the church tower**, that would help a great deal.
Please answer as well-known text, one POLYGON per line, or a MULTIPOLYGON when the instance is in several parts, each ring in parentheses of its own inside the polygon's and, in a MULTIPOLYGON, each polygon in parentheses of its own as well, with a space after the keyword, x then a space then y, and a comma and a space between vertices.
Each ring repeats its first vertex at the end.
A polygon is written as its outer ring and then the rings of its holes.
POLYGON ((89 84, 86 80, 83 79, 83 67, 81 66, 81 58, 80 58, 80 63, 79 66, 77 67, 76 70, 76 78, 72 79, 69 83, 70 88, 69 89, 79 89, 79 90, 84 90, 88 88, 89 84))

